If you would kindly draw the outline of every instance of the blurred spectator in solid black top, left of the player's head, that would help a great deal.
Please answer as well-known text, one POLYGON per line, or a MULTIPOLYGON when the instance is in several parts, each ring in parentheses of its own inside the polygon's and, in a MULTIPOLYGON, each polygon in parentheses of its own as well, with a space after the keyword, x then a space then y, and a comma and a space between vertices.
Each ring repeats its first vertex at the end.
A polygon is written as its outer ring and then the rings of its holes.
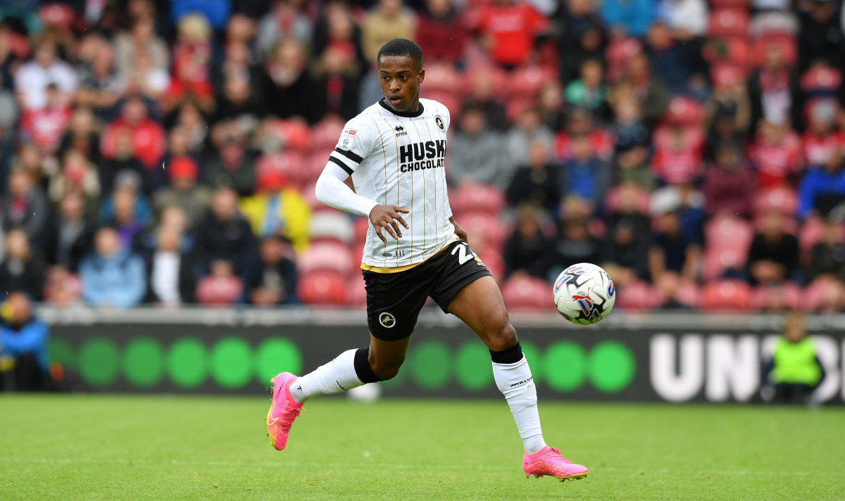
POLYGON ((303 47, 296 41, 282 41, 267 63, 267 111, 280 118, 303 117, 313 123, 314 83, 308 75, 303 47))

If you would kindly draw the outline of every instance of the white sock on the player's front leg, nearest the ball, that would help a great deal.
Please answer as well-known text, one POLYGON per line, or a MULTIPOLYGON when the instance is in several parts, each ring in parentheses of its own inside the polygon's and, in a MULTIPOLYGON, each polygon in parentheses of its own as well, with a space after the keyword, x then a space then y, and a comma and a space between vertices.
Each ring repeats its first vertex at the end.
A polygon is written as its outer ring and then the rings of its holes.
POLYGON ((493 379, 505 400, 508 400, 526 452, 537 453, 546 446, 546 442, 542 439, 540 413, 537 411, 537 387, 526 357, 523 356, 516 363, 493 362, 493 379))

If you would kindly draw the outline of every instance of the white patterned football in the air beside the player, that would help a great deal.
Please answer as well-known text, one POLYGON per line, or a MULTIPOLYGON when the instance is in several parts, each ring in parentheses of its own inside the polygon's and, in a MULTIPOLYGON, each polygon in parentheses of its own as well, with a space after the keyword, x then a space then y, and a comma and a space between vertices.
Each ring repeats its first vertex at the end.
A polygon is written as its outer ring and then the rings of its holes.
POLYGON ((616 302, 610 275, 591 263, 573 264, 554 280, 554 306, 573 324, 597 324, 616 302))

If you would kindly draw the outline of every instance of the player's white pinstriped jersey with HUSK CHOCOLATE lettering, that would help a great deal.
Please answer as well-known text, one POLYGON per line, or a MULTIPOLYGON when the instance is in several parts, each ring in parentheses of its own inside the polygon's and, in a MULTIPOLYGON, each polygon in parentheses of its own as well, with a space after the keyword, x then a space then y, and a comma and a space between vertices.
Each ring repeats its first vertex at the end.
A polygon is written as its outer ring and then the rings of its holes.
POLYGON ((404 270, 457 238, 444 169, 449 125, 446 106, 420 99, 417 112, 394 112, 379 101, 343 128, 329 161, 352 175, 359 195, 411 211, 402 215, 410 229, 401 228, 399 240, 384 231, 384 243, 369 226, 364 270, 404 270))

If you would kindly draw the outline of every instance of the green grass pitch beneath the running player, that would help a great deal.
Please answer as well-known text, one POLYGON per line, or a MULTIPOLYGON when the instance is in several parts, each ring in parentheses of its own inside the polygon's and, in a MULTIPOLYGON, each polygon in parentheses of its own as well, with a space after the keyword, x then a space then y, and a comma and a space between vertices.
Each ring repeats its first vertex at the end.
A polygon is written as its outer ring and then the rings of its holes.
POLYGON ((504 401, 315 399, 288 449, 269 398, 0 396, 0 499, 845 498, 845 409, 542 401, 591 468, 526 479, 504 401))

